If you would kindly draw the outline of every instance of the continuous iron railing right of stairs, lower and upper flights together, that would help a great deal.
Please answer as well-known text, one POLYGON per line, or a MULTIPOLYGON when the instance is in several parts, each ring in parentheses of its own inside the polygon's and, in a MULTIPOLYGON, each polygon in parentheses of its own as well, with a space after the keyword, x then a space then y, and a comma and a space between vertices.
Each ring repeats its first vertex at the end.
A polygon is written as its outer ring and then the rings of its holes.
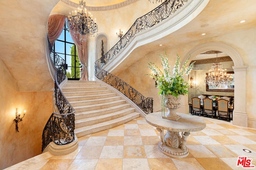
POLYGON ((116 57, 116 55, 128 44, 135 34, 165 20, 187 2, 188 0, 166 0, 163 4, 148 14, 138 18, 120 41, 118 41, 110 51, 102 55, 102 57, 95 62, 95 76, 122 92, 147 114, 153 112, 153 98, 144 97, 137 90, 132 88, 132 86, 102 68, 106 63, 116 57))

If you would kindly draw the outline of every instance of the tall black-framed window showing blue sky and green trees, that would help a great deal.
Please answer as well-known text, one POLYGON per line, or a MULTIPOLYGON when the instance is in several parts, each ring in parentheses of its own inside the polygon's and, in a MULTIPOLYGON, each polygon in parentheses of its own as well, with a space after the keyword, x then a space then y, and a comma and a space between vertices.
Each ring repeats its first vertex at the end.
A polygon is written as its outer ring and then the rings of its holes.
POLYGON ((60 37, 54 43, 53 50, 66 61, 65 74, 68 80, 79 80, 82 64, 78 59, 76 45, 70 36, 66 23, 60 37))

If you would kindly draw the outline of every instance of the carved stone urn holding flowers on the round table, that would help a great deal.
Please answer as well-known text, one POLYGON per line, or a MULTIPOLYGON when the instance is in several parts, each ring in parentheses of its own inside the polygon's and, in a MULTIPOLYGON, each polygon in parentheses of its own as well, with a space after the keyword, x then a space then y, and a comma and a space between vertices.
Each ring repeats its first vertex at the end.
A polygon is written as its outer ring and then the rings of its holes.
POLYGON ((164 119, 178 121, 181 119, 180 115, 177 115, 176 109, 180 108, 180 99, 184 95, 179 95, 178 98, 172 95, 165 95, 165 107, 168 109, 168 113, 162 116, 164 119))

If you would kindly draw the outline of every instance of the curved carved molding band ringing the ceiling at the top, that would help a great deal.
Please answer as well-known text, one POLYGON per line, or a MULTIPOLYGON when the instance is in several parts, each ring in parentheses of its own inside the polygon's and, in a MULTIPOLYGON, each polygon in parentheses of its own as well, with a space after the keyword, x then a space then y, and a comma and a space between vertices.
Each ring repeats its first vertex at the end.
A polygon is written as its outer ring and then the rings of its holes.
MULTIPOLYGON (((77 4, 75 2, 71 2, 70 0, 61 0, 61 1, 70 6, 73 6, 75 8, 78 8, 78 6, 79 6, 79 4, 77 4)), ((108 11, 108 10, 114 10, 117 8, 122 8, 124 6, 130 5, 137 1, 139 1, 139 0, 126 0, 126 1, 120 2, 118 4, 108 5, 108 6, 86 6, 86 9, 89 11, 108 11)))

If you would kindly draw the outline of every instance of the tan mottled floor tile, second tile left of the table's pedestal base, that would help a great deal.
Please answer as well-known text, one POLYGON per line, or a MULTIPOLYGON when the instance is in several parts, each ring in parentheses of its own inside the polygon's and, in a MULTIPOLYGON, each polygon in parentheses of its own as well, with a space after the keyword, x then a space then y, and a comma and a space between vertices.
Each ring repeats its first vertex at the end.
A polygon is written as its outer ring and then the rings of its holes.
POLYGON ((142 145, 124 146, 123 158, 146 158, 144 146, 142 145))

